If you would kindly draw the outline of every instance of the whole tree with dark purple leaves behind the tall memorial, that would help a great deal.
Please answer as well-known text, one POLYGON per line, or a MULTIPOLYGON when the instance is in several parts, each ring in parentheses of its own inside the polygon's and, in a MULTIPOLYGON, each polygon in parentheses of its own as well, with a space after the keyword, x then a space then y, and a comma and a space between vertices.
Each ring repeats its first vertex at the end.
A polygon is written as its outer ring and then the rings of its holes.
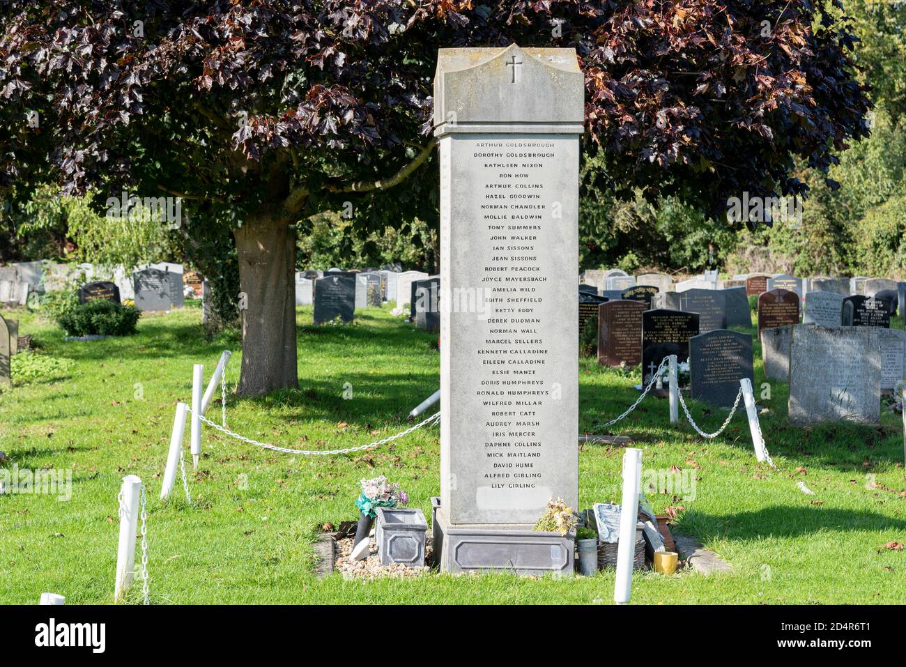
POLYGON ((808 0, 0 0, 0 189, 183 198, 189 234, 236 240, 239 391, 294 387, 298 221, 437 218, 439 48, 574 47, 601 165, 583 187, 721 213, 742 191, 804 194, 797 162, 826 173, 867 134, 836 15, 808 0))

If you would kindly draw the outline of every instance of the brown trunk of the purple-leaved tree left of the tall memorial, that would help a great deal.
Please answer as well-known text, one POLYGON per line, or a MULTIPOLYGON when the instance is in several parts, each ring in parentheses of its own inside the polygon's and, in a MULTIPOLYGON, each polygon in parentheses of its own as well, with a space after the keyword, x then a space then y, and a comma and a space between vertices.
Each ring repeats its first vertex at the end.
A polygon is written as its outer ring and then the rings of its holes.
POLYGON ((281 218, 233 230, 239 258, 242 376, 246 396, 299 386, 295 357, 295 232, 281 218))

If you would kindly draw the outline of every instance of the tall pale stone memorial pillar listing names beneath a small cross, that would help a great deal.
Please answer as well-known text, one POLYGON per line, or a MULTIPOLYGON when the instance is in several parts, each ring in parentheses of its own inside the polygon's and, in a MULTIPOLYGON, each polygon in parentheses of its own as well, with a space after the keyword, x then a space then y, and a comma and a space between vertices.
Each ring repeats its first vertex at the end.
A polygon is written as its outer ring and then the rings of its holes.
POLYGON ((572 538, 532 527, 549 498, 578 503, 584 76, 573 49, 513 44, 441 49, 434 84, 440 282, 502 302, 441 308, 435 556, 442 572, 572 574, 572 538))

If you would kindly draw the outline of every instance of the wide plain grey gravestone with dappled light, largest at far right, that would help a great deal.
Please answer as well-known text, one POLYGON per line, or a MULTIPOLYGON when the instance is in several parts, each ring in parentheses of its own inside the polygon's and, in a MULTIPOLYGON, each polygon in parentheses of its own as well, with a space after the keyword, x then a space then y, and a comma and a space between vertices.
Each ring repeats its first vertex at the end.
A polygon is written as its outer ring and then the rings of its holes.
POLYGON ((870 328, 794 328, 789 420, 797 426, 880 422, 881 351, 870 328))

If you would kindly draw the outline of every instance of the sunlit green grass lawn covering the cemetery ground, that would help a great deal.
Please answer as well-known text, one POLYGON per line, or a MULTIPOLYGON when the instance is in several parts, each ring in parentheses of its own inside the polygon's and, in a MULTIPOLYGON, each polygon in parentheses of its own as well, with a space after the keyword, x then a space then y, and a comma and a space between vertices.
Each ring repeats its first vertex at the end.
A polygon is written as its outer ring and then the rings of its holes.
MULTIPOLYGON (((388 310, 357 314, 352 326, 315 328, 311 308, 300 308, 299 390, 231 399, 230 428, 304 449, 350 447, 405 429, 410 409, 439 386, 437 336, 388 310), (350 400, 343 399, 347 382, 350 400)), ((234 352, 227 382, 235 385, 236 337, 206 342, 195 305, 142 317, 130 338, 92 343, 64 343, 56 326, 25 312, 11 316, 20 318, 20 333, 34 334, 41 353, 73 363, 61 380, 0 393, 0 450, 7 467, 71 470, 72 499, 0 497, 0 603, 35 604, 44 591, 65 595, 67 604, 112 602, 116 497, 128 474, 148 488, 153 603, 612 603, 612 573, 318 579, 313 538, 323 523, 357 516, 352 500, 360 478, 399 481, 410 505, 430 516, 429 498, 439 494, 437 427, 331 457, 279 454, 207 429, 201 464, 189 478, 194 503, 187 505, 177 481, 165 505, 158 495, 174 404, 190 402, 192 364, 204 363, 207 379, 223 349, 234 352)), ((757 351, 757 393, 763 380, 757 351)), ((582 361, 580 382, 584 432, 601 433, 601 424, 638 396, 638 373, 625 376, 593 360, 582 361)), ((613 427, 643 449, 646 469, 694 471, 694 498, 649 499, 658 512, 684 507, 676 530, 699 537, 733 566, 732 574, 710 577, 636 574, 633 602, 906 602, 906 550, 883 548, 906 542, 900 416, 884 409, 880 428, 796 429, 786 423, 786 384, 769 389, 770 398, 760 400, 769 410, 762 428, 778 471, 757 464, 743 414, 705 441, 686 423, 671 427, 667 401, 650 397, 613 427), (814 496, 797 488, 800 481, 814 496)), ((726 414, 692 410, 705 430, 717 429, 726 414)), ((208 416, 219 421, 218 404, 208 416)), ((190 461, 188 429, 186 448, 190 461)), ((619 501, 621 459, 620 448, 579 448, 582 507, 619 501)))

